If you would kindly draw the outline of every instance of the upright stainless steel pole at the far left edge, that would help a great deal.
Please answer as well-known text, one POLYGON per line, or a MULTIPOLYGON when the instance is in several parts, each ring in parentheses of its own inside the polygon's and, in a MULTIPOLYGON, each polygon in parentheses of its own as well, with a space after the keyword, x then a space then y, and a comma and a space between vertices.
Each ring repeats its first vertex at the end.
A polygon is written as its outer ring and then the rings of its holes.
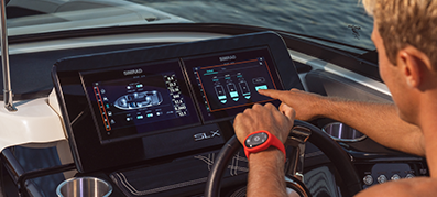
POLYGON ((9 50, 8 50, 8 29, 7 29, 7 14, 6 14, 6 2, 1 0, 1 63, 3 67, 3 100, 4 108, 8 111, 17 111, 17 108, 13 106, 12 100, 12 88, 11 88, 11 75, 10 75, 10 66, 9 66, 9 50))

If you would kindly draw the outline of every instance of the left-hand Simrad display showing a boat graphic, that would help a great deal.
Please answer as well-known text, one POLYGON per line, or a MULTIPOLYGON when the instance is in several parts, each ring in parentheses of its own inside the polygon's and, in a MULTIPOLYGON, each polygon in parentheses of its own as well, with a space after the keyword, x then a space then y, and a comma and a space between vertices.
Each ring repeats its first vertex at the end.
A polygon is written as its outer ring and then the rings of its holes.
POLYGON ((102 141, 199 122, 177 61, 84 73, 83 79, 102 141))

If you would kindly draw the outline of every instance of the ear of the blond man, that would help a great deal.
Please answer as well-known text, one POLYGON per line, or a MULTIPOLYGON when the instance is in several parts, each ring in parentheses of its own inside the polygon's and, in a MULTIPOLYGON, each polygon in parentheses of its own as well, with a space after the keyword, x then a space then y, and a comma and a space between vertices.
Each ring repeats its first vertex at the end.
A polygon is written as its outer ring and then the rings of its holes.
POLYGON ((412 88, 420 88, 424 74, 431 68, 428 56, 413 46, 406 46, 397 53, 397 66, 401 76, 412 88))

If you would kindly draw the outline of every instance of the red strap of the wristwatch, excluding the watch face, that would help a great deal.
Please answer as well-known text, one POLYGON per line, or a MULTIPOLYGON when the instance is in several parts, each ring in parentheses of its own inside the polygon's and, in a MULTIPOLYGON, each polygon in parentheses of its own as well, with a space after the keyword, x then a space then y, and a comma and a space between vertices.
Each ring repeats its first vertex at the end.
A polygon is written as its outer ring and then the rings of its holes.
POLYGON ((286 153, 285 153, 285 146, 284 146, 284 144, 281 142, 280 139, 277 139, 275 135, 273 135, 273 134, 270 133, 269 131, 261 130, 261 131, 255 131, 255 132, 253 132, 253 133, 250 133, 250 134, 244 139, 244 142, 248 140, 248 138, 249 138, 250 135, 255 134, 255 133, 262 133, 262 132, 267 134, 267 136, 269 136, 269 138, 267 138, 267 141, 265 141, 263 144, 261 144, 261 145, 259 145, 259 146, 255 146, 255 147, 247 147, 245 145, 243 145, 243 146, 244 146, 245 157, 248 157, 248 160, 249 160, 250 153, 258 153, 258 152, 261 152, 261 151, 264 151, 264 150, 269 149, 270 146, 275 146, 276 149, 278 149, 281 152, 284 153, 284 160, 286 160, 286 153))

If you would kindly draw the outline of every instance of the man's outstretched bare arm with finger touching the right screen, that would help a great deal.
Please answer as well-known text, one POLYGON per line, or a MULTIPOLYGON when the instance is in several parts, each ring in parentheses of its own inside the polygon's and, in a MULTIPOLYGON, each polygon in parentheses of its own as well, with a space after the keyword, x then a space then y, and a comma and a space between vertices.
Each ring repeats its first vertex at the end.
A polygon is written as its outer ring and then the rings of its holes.
POLYGON ((392 103, 350 101, 296 89, 259 92, 292 107, 296 111, 296 119, 308 121, 330 118, 363 132, 387 147, 425 156, 424 136, 419 128, 403 121, 392 103))

